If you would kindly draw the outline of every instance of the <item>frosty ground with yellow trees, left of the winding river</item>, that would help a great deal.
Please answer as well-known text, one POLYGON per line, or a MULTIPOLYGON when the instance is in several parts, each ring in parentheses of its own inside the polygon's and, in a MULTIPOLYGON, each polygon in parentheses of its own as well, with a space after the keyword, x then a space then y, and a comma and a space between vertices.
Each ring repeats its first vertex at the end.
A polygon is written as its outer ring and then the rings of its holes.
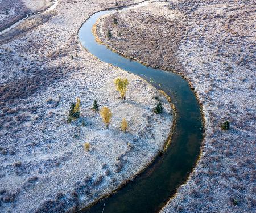
POLYGON ((89 15, 114 5, 63 0, 55 16, 32 30, 16 35, 12 29, 1 37, 1 212, 77 210, 133 178, 162 150, 172 126, 166 97, 138 76, 99 61, 77 38, 89 15), (115 90, 118 76, 129 79, 125 101, 115 90), (69 124, 76 97, 81 117, 69 124), (162 100, 162 115, 152 111, 155 97, 162 100), (108 130, 90 109, 94 99, 112 110, 108 130), (119 129, 123 117, 127 133, 119 129))

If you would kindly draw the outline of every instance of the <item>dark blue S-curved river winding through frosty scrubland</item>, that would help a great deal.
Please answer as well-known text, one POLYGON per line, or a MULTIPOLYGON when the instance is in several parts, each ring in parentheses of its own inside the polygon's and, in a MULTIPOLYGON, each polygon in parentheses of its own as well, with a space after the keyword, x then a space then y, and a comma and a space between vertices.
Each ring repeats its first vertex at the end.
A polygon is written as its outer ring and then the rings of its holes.
MULTIPOLYGON (((136 7, 138 6, 141 5, 136 7)), ((127 9, 129 8, 122 10, 127 9)), ((118 10, 118 12, 122 10, 118 10)), ((158 212, 175 194, 176 189, 187 180, 196 164, 200 154, 200 144, 203 140, 203 118, 195 93, 181 76, 131 61, 95 41, 92 33, 93 25, 101 16, 113 12, 117 11, 100 11, 90 16, 79 31, 81 44, 101 61, 141 76, 152 86, 166 92, 175 105, 176 125, 173 127, 170 146, 162 155, 156 157, 144 172, 110 197, 102 199, 92 207, 80 212, 158 212)))

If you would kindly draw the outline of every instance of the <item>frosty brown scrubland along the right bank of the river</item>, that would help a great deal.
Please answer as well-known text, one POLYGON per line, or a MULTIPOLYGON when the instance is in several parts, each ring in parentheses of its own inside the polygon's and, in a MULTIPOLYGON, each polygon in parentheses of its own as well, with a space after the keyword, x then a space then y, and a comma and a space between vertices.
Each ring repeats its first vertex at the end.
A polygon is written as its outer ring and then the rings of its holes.
POLYGON ((203 104, 200 159, 162 212, 256 211, 255 12, 256 1, 152 1, 98 24, 106 45, 183 75, 203 104))

